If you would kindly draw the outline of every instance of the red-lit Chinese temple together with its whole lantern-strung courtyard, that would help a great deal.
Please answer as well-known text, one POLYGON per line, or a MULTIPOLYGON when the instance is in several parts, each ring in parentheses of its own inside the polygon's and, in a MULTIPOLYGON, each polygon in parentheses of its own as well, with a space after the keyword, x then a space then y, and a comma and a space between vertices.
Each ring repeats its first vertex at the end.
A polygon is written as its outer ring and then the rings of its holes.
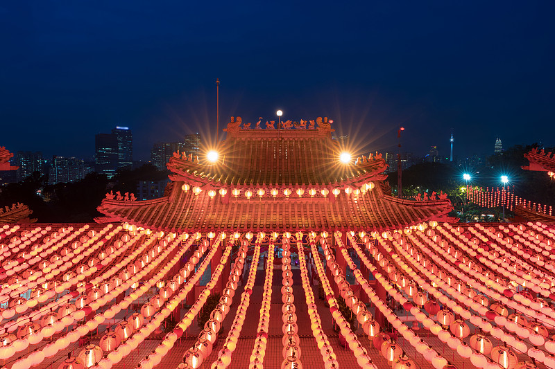
POLYGON ((0 368, 555 368, 554 224, 393 197, 330 124, 232 119, 160 199, 0 224, 0 368))

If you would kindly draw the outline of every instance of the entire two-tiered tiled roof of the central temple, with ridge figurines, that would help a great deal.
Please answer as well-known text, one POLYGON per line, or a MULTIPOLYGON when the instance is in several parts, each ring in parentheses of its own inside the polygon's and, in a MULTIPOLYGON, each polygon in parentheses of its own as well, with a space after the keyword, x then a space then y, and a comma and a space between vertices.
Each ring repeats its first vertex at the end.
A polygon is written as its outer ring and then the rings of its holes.
POLYGON ((174 153, 164 197, 135 201, 110 193, 98 208, 105 216, 95 220, 163 231, 325 231, 446 219, 452 210, 447 195, 391 197, 381 154, 343 163, 330 123, 316 123, 312 129, 241 129, 232 120, 228 138, 216 147, 216 163, 174 153))

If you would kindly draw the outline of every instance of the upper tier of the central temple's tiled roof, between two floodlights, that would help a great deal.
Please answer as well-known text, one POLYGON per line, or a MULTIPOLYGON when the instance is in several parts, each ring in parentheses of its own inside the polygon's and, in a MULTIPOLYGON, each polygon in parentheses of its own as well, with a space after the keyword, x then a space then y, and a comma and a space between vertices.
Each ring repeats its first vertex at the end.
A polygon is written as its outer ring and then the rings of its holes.
MULTIPOLYGON (((345 164, 330 132, 318 129, 240 129, 228 132, 216 163, 174 154, 167 167, 173 180, 211 186, 345 186, 386 178, 381 154, 345 164)), ((353 160, 354 161, 354 160, 353 160)))

